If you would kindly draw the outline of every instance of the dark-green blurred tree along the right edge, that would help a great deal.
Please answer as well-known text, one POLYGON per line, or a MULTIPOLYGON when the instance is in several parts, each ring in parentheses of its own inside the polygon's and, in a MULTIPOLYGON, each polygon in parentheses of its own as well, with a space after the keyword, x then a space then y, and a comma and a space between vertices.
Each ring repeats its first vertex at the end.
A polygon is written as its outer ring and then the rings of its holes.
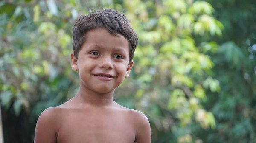
POLYGON ((207 92, 208 100, 203 104, 214 114, 216 128, 204 131, 194 127, 195 135, 207 143, 255 143, 256 2, 207 1, 225 27, 223 36, 214 38, 221 48, 209 53, 215 64, 213 77, 220 82, 222 92, 207 92))

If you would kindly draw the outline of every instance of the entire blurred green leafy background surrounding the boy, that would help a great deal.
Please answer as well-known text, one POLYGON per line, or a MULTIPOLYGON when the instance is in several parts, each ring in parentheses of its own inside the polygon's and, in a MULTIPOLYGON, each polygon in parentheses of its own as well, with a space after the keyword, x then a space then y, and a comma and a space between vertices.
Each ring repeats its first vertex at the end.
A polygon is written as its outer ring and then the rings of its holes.
POLYGON ((4 143, 33 143, 41 112, 76 95, 73 24, 104 8, 139 36, 114 100, 147 115, 152 143, 256 143, 255 0, 1 0, 4 143))

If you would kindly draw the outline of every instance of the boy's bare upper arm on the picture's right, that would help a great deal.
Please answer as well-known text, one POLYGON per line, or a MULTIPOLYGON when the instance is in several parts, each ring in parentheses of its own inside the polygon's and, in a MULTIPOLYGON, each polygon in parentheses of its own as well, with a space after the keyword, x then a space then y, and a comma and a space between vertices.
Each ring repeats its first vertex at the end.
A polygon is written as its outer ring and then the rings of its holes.
POLYGON ((136 138, 134 143, 151 143, 151 129, 148 118, 137 111, 135 116, 136 138))

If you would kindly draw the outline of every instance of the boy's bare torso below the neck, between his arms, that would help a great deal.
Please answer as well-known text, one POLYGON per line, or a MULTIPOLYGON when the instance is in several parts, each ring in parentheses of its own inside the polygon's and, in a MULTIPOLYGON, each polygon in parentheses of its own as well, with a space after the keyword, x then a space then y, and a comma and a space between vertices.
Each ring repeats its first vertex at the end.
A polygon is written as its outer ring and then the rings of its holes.
POLYGON ((60 107, 57 143, 134 143, 132 110, 113 107, 60 107), (63 116, 62 116, 63 115, 63 116))

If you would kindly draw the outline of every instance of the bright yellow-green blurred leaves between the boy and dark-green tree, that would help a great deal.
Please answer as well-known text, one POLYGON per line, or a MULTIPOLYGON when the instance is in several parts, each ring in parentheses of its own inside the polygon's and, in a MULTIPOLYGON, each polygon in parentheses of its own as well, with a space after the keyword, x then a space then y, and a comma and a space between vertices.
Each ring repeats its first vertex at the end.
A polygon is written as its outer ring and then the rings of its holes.
MULTIPOLYGON (((213 115, 200 102, 206 98, 205 89, 220 91, 218 81, 210 76, 213 63, 204 54, 218 45, 206 41, 196 43, 193 35, 221 36, 222 25, 211 17, 209 3, 176 2, 125 3, 132 5, 126 12, 140 38, 134 75, 127 81, 135 84, 131 85, 133 89, 138 89, 130 92, 129 97, 135 95, 135 108, 145 112, 154 123, 152 132, 171 129, 172 139, 167 140, 185 143, 200 140, 191 135, 190 125, 195 121, 205 129, 215 127, 213 115)), ((157 143, 166 142, 161 134, 153 136, 157 143)))

